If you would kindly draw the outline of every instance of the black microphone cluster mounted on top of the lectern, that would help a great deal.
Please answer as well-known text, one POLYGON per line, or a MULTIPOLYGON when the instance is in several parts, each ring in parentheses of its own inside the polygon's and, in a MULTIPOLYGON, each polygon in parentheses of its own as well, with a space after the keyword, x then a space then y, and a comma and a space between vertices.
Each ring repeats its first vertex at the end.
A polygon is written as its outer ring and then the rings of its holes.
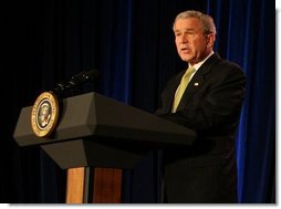
POLYGON ((73 75, 69 82, 58 83, 56 87, 54 87, 54 92, 60 94, 70 88, 77 87, 79 85, 82 85, 86 82, 94 82, 98 77, 98 75, 100 75, 100 72, 97 70, 82 71, 73 75))

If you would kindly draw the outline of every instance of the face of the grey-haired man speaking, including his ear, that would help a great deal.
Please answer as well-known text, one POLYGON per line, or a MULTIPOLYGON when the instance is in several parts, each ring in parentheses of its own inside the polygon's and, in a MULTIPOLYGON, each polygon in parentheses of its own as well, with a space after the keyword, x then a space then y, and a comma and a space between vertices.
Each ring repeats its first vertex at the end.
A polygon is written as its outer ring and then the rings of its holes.
POLYGON ((215 34, 205 34, 197 18, 178 19, 174 24, 177 52, 183 61, 196 64, 209 55, 215 34))

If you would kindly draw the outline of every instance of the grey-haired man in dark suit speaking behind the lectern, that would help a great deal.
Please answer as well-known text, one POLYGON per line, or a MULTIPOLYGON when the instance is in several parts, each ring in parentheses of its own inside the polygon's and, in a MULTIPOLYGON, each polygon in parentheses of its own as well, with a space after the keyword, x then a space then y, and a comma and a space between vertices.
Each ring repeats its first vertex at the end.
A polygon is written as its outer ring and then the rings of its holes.
POLYGON ((168 81, 156 114, 196 130, 197 138, 192 146, 164 150, 165 202, 237 202, 235 138, 244 97, 243 71, 214 52, 211 17, 185 11, 173 29, 188 70, 168 81))

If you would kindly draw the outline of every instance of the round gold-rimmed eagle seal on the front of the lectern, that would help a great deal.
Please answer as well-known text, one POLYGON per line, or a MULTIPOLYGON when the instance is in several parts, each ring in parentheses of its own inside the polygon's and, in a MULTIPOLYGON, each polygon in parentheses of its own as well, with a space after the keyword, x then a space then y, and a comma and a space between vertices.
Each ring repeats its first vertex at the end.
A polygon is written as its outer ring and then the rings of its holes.
POLYGON ((55 94, 43 92, 38 96, 31 112, 31 126, 39 137, 52 134, 59 119, 59 101, 55 94))

